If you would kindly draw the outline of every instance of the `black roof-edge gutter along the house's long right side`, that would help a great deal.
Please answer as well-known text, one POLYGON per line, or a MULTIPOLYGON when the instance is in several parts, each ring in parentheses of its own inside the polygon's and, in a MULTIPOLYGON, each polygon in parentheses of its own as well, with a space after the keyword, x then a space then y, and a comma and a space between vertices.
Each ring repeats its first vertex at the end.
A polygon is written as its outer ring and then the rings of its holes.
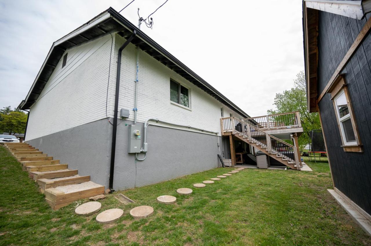
POLYGON ((180 68, 182 68, 184 71, 186 71, 188 74, 190 74, 193 78, 200 81, 201 84, 203 84, 205 87, 209 88, 212 92, 214 92, 217 96, 222 98, 225 102, 227 102, 229 105, 231 105, 234 109, 239 111, 239 113, 246 118, 250 118, 248 114, 246 114, 242 109, 237 107, 236 104, 234 104, 232 101, 230 101, 228 98, 226 98, 223 94, 221 94, 219 91, 217 91, 214 87, 212 87, 208 82, 203 80, 200 76, 198 76, 196 73, 194 73, 190 68, 188 68, 186 65, 184 65, 181 61, 179 61, 177 58, 175 58, 172 54, 170 54, 167 50, 162 48, 158 43, 156 43, 152 38, 148 37, 147 34, 145 34, 143 31, 141 31, 138 27, 134 26, 130 21, 128 21, 125 17, 123 17, 121 14, 119 14, 116 10, 114 10, 112 7, 109 7, 107 10, 108 13, 110 13, 112 16, 114 16, 117 20, 121 21, 122 24, 124 24, 127 28, 130 30, 135 30, 138 33, 138 36, 141 37, 144 41, 151 44, 155 49, 160 51, 160 53, 164 54, 165 57, 172 60, 175 64, 177 64, 180 68))

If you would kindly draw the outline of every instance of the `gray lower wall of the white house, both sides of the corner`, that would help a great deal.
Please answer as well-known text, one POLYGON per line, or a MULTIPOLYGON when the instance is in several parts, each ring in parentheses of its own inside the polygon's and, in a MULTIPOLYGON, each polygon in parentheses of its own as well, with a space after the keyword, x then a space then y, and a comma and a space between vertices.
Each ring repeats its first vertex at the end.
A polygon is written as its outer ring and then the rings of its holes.
MULTIPOLYGON (((115 190, 149 185, 219 165, 220 137, 153 125, 147 129, 147 156, 144 161, 136 161, 135 154, 128 154, 129 124, 133 122, 122 121, 117 128, 115 190)), ((143 129, 143 123, 137 125, 143 129)), ((108 188, 111 139, 112 126, 102 119, 27 142, 108 188)), ((139 154, 139 158, 143 156, 139 154)))

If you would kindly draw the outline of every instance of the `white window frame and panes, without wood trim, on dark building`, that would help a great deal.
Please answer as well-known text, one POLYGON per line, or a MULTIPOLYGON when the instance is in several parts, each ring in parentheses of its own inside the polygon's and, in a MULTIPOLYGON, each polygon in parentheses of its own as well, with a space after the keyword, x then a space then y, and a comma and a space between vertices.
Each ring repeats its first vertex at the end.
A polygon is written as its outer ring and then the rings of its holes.
POLYGON ((354 129, 352 125, 352 119, 349 112, 349 105, 347 103, 347 97, 345 91, 342 89, 338 95, 334 98, 336 106, 336 115, 338 117, 339 127, 341 129, 341 135, 344 141, 344 145, 357 144, 355 139, 354 129))

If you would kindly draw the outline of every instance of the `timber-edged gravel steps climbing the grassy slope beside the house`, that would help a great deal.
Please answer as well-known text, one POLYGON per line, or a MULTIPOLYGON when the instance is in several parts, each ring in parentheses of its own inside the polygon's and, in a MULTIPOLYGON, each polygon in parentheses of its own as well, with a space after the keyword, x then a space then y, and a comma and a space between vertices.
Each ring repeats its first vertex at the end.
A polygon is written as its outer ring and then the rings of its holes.
POLYGON ((60 164, 53 156, 47 156, 29 144, 9 143, 5 146, 37 182, 53 210, 104 193, 104 186, 91 182, 90 176, 79 176, 78 170, 68 169, 68 164, 60 164))

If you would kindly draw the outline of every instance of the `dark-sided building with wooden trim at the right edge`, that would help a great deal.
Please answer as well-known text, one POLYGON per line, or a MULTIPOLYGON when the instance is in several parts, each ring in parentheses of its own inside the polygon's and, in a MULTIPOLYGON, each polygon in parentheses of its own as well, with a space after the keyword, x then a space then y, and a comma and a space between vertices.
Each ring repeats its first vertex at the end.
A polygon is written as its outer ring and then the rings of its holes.
POLYGON ((363 14, 338 2, 347 10, 303 1, 308 109, 320 114, 334 191, 370 220, 371 13, 367 1, 354 1, 363 14))

